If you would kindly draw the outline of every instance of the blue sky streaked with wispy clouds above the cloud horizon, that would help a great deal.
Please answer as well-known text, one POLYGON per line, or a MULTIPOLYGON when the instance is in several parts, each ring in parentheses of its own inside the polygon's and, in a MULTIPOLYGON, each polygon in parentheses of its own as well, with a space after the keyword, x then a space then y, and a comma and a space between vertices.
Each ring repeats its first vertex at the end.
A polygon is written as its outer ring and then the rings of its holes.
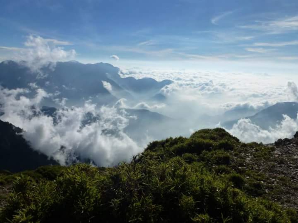
POLYGON ((110 62, 112 55, 119 62, 298 61, 296 0, 0 0, 0 5, 0 60, 26 47, 33 35, 75 49, 83 62, 110 62))

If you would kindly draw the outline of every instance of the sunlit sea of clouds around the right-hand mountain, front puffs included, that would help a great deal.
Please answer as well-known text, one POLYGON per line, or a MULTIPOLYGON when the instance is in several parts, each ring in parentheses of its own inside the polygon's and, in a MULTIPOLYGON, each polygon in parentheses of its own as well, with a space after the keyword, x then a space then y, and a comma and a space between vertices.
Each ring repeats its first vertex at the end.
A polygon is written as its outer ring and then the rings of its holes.
MULTIPOLYGON (((190 131, 200 129, 200 123, 204 120, 197 118, 201 114, 218 115, 231 109, 247 109, 254 114, 278 102, 298 100, 298 89, 294 81, 288 81, 288 77, 285 76, 268 73, 126 68, 122 70, 122 76, 173 80, 174 84, 161 90, 168 98, 167 104, 149 107, 171 117, 187 117, 197 125, 190 126, 190 131)), ((220 123, 216 126, 221 127, 220 123)), ((297 119, 284 115, 280 123, 269 129, 262 129, 249 119, 240 119, 232 129, 226 130, 243 142, 272 143, 279 138, 293 137, 298 131, 298 125, 297 119)))

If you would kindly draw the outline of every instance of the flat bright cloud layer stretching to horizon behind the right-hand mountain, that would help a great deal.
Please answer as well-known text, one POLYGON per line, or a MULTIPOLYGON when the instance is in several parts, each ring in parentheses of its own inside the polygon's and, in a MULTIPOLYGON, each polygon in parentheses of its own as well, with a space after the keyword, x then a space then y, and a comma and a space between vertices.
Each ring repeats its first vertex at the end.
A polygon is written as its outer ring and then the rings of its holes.
MULTIPOLYGON (((199 72, 195 70, 169 70, 158 68, 133 68, 122 70, 123 76, 135 78, 151 77, 158 81, 170 79, 173 84, 162 88, 161 93, 166 96, 162 101, 165 106, 156 109, 157 112, 169 117, 185 120, 197 120, 190 123, 190 128, 199 129, 202 121, 201 114, 217 115, 228 109, 240 105, 247 105, 255 109, 264 108, 274 103, 288 101, 286 92, 287 79, 284 75, 272 73, 230 73, 230 72, 199 72), (230 107, 227 107, 227 103, 230 107)), ((148 106, 155 103, 150 100, 141 100, 148 106)), ((131 105, 131 104, 130 104, 131 105)), ((136 104, 135 104, 136 105, 136 104)), ((134 107, 135 105, 131 105, 134 107)), ((144 107, 145 106, 145 107, 144 107)), ((136 107, 135 107, 136 108, 136 107)), ((252 114, 249 114, 252 115, 252 114)), ((245 116, 244 116, 245 117, 245 116)), ((214 126, 207 126, 214 127, 214 126)))

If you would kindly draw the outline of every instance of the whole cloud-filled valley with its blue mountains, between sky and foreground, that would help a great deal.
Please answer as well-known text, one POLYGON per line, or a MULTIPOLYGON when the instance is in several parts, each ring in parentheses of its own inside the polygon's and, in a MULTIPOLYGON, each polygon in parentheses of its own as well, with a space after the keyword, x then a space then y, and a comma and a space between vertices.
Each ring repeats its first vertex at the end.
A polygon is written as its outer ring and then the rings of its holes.
POLYGON ((243 142, 263 143, 290 138, 298 129, 297 80, 83 64, 63 44, 30 35, 24 49, 0 63, 0 119, 62 165, 113 166, 153 140, 201 128, 221 127, 243 142))

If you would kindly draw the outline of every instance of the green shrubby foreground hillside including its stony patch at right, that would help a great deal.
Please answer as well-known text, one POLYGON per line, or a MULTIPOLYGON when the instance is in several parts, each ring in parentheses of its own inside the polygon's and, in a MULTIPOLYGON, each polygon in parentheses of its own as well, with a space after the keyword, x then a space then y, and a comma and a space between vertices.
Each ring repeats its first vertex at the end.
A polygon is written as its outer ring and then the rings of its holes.
POLYGON ((112 168, 2 173, 0 222, 297 222, 297 151, 296 138, 245 144, 216 128, 112 168))

